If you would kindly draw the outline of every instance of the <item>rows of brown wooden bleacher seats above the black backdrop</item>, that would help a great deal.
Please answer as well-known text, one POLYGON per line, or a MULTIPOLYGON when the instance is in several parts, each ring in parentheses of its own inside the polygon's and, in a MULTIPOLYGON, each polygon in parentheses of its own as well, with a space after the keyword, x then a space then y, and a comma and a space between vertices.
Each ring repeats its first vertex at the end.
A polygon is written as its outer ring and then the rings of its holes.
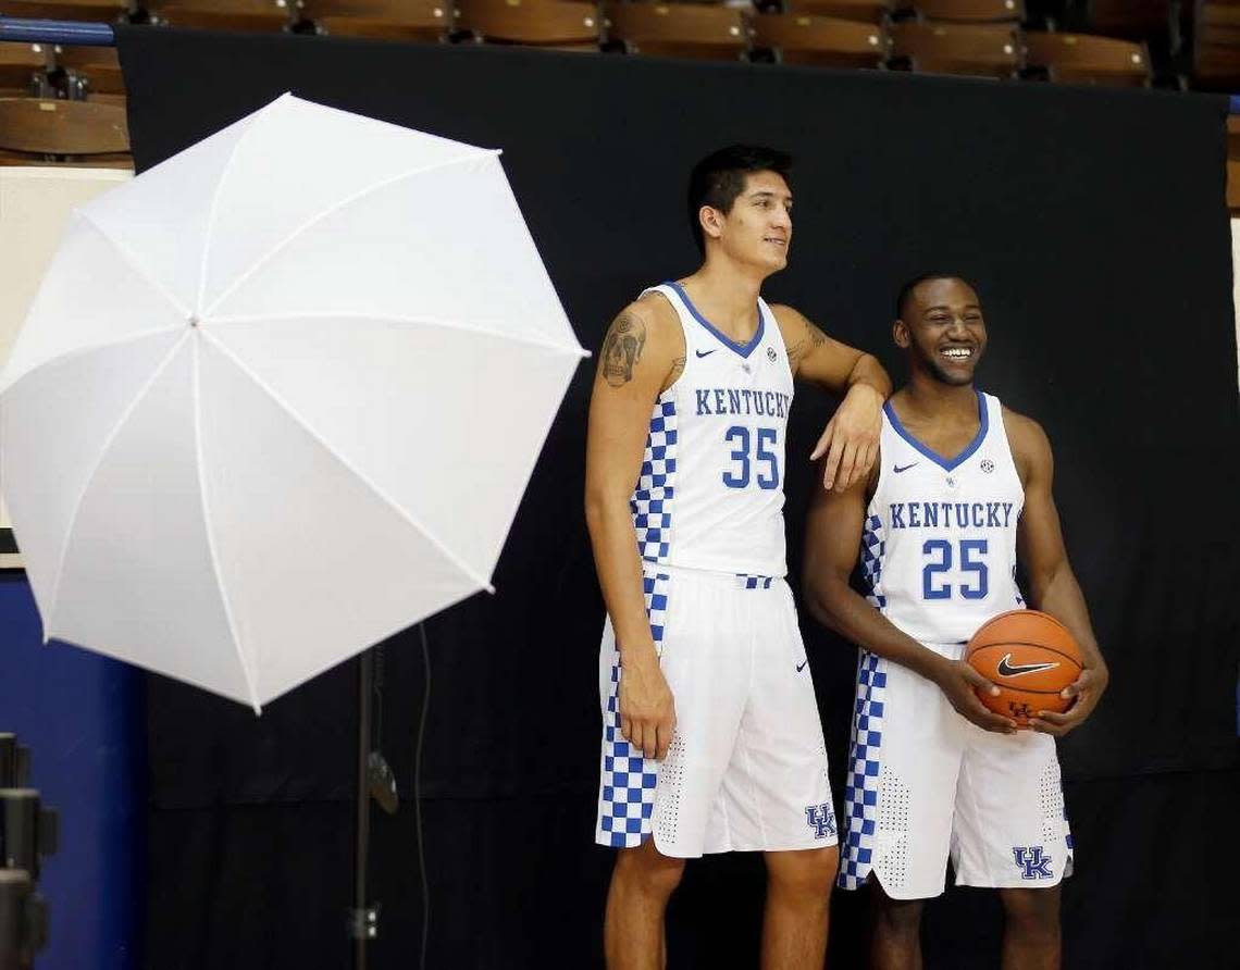
MULTIPOLYGON (((0 0, 0 16, 1240 91, 1240 0, 0 0)), ((114 50, 0 42, 0 164, 125 158, 103 115, 40 127, 56 113, 26 100, 123 118, 114 50), (51 136, 66 125, 84 134, 51 136)))

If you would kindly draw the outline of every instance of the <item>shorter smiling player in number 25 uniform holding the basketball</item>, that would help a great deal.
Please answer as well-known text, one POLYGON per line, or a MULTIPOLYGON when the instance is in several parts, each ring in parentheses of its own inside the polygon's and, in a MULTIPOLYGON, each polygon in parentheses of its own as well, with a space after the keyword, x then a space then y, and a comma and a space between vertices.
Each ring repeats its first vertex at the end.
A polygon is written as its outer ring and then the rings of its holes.
POLYGON ((879 463, 816 496, 807 523, 807 605, 861 646, 839 884, 874 883, 872 966, 920 968, 923 901, 942 892, 950 857, 959 884, 999 892, 1004 970, 1050 970, 1073 855, 1052 736, 1089 717, 1106 665, 1064 551, 1047 435, 973 388, 977 294, 921 277, 897 314, 910 380, 884 408, 879 463), (869 602, 848 584, 858 554, 869 602), (1017 554, 1029 604, 1085 660, 1066 713, 1021 732, 981 703, 994 687, 961 660, 978 626, 1024 605, 1017 554))

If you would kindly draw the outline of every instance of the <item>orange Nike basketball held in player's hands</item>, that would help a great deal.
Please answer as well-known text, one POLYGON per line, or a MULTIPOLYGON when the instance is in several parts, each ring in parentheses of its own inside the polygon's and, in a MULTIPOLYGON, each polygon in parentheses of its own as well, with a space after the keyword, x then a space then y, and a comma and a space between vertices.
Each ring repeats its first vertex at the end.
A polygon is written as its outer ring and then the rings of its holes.
POLYGON ((978 692, 982 703, 1021 727, 1039 711, 1066 711, 1071 700, 1059 692, 1081 672, 1081 651, 1068 628, 1035 609, 987 620, 965 647, 965 659, 999 688, 997 695, 978 692))

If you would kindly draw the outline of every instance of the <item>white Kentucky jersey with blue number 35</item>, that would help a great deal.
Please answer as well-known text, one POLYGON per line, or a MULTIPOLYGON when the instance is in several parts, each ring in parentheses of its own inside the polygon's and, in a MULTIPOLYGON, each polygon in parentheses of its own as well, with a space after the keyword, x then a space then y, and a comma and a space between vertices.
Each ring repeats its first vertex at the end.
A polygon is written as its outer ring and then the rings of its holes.
POLYGON ((792 372, 770 308, 737 344, 677 283, 661 293, 684 331, 684 371, 658 401, 630 500, 647 563, 782 577, 784 444, 792 372))

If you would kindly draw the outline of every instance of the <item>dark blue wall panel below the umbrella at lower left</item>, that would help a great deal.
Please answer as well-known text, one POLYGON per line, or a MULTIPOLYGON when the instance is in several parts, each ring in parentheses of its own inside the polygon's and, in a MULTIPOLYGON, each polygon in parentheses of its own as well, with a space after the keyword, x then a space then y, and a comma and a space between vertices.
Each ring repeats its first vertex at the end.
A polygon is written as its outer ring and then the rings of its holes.
POLYGON ((138 970, 145 860, 143 675, 42 644, 30 584, 0 574, 0 731, 31 749, 30 784, 60 812, 40 892, 51 940, 37 970, 138 970))

